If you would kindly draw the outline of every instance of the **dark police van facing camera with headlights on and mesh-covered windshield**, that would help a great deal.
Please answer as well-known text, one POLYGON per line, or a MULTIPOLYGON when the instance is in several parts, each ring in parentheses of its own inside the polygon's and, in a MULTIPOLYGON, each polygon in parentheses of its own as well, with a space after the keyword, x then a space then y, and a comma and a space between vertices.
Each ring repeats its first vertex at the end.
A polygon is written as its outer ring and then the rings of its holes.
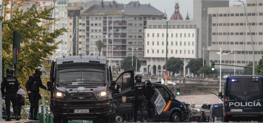
POLYGON ((112 80, 106 57, 63 56, 52 60, 50 81, 50 109, 55 123, 70 119, 93 122, 113 122, 115 99, 119 85, 112 80), (101 120, 103 121, 101 121, 101 120))

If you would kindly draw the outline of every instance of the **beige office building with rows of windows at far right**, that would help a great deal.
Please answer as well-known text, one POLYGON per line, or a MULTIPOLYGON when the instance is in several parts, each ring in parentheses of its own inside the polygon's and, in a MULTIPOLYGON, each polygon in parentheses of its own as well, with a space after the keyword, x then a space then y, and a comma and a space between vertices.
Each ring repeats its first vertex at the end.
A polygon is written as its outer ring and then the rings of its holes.
MULTIPOLYGON (((263 0, 247 0, 245 5, 250 24, 255 64, 262 58, 263 0)), ((220 48, 223 53, 222 64, 245 66, 253 61, 252 42, 243 4, 235 7, 208 8, 208 48, 210 62, 220 63, 220 48)), ((219 69, 219 65, 215 65, 219 69)), ((236 75, 243 73, 243 67, 236 67, 236 75)), ((222 72, 233 75, 234 67, 222 66, 222 72)))

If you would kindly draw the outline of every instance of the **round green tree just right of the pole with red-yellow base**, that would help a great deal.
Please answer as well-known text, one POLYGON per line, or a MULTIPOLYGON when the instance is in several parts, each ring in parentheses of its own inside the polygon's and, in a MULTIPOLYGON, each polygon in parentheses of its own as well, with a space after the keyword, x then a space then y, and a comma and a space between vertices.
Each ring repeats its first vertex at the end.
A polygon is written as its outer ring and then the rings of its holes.
POLYGON ((179 73, 181 65, 184 65, 184 62, 180 58, 171 57, 167 61, 167 70, 173 72, 173 74, 179 73))

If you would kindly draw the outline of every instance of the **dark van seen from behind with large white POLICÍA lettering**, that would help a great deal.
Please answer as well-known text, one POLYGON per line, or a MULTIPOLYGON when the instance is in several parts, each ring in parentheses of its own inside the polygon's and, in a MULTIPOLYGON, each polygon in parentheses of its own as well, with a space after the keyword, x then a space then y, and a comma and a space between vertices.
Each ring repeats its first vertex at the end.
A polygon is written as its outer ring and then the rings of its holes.
POLYGON ((223 98, 223 122, 263 122, 262 76, 228 76, 225 81, 223 98))

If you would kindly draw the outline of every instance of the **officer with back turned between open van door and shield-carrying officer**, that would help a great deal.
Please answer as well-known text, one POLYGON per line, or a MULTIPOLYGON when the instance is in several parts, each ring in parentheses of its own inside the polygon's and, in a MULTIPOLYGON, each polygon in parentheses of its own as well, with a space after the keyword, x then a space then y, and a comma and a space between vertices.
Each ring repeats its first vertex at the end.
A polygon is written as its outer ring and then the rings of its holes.
POLYGON ((134 103, 134 122, 137 121, 137 110, 141 108, 141 122, 144 122, 144 99, 146 96, 146 86, 141 82, 141 75, 137 74, 135 77, 135 103, 134 103))

